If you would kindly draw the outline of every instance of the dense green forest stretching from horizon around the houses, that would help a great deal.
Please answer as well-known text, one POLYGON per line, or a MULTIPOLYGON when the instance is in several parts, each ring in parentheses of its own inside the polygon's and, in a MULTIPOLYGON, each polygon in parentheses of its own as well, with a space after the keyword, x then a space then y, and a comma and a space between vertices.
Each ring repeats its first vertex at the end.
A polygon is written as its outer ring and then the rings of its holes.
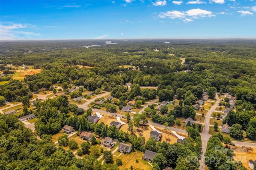
MULTIPOLYGON (((42 72, 27 75, 20 82, 1 77, 0 81, 9 82, 0 85, 0 102, 22 101, 29 104, 32 92, 46 88, 53 90, 54 84, 61 84, 68 95, 72 85, 83 85, 89 91, 110 91, 119 101, 113 105, 104 103, 107 109, 120 109, 126 102, 141 95, 143 99, 172 101, 180 100, 171 111, 158 115, 154 107, 148 107, 142 115, 137 115, 138 124, 151 114, 152 121, 173 125, 177 117, 194 117, 192 105, 201 99, 204 92, 210 98, 215 93, 229 93, 236 97, 236 109, 228 113, 223 123, 240 125, 251 139, 256 138, 256 42, 254 40, 115 40, 117 44, 103 45, 103 41, 38 41, 38 42, 1 42, 0 69, 11 70, 6 65, 33 65, 42 72), (170 42, 170 43, 164 43, 170 42), (84 47, 100 44, 101 46, 84 47), (181 63, 185 58, 185 63, 181 63), (79 65, 81 67, 79 67, 79 65), (127 68, 126 68, 127 67, 127 68), (188 71, 185 71, 188 70, 188 71), (130 90, 125 83, 132 83, 130 90), (140 86, 157 86, 155 89, 140 89, 140 86), (28 101, 28 103, 27 103, 28 101), (166 113, 166 114, 164 114, 166 113), (144 115, 145 114, 145 115, 144 115)), ((9 74, 11 74, 9 72, 9 74)), ((77 92, 70 96, 77 97, 77 92)), ((138 103, 138 102, 137 102, 138 103)), ((228 102, 221 102, 226 105, 228 102)), ((141 105, 141 104, 140 104, 141 105)), ((92 103, 92 107, 99 107, 92 103)), ((26 106, 25 106, 26 108, 26 106)), ((168 163, 181 169, 198 169, 198 160, 184 164, 187 156, 197 156, 201 150, 200 128, 188 127, 188 138, 184 144, 154 143, 143 137, 134 136, 103 124, 91 125, 87 121, 90 111, 82 117, 67 117, 68 112, 78 113, 76 105, 69 105, 65 95, 58 99, 47 99, 37 103, 35 113, 38 117, 36 132, 42 138, 25 128, 14 116, 0 117, 0 169, 118 169, 113 164, 99 164, 96 157, 88 156, 78 160, 72 152, 62 147, 56 148, 51 134, 56 134, 64 125, 76 130, 94 131, 102 137, 110 136, 132 143, 137 150, 158 152, 164 163, 156 163, 153 169, 163 169, 168 163), (58 114, 58 110, 62 114, 58 114), (149 144, 147 143, 150 143, 149 144), (170 157, 170 156, 174 157, 170 157)), ((113 110, 114 111, 114 110, 113 110)), ((136 117, 136 116, 135 116, 136 117)), ((144 123, 143 123, 144 124, 144 123)), ((237 125, 237 126, 238 126, 237 125)), ((132 126, 132 125, 131 125, 132 126)), ((212 136, 210 143, 221 144, 223 136, 212 136)), ((239 136, 238 136, 239 137, 239 136)), ((226 160, 226 157, 223 160, 226 160)), ((154 161, 153 161, 154 162, 154 161)), ((218 169, 208 164, 210 169, 218 169)), ((220 167, 238 167, 239 162, 220 167)))

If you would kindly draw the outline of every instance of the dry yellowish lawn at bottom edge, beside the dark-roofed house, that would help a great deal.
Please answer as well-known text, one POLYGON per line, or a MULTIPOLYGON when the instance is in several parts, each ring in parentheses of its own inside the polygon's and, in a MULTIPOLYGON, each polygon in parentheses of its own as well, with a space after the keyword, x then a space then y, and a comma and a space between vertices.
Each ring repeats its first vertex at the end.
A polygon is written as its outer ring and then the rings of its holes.
POLYGON ((142 156, 144 155, 143 152, 140 152, 136 150, 135 152, 131 152, 130 154, 121 154, 121 156, 116 157, 113 156, 114 162, 116 162, 116 159, 122 159, 122 166, 119 166, 121 170, 128 168, 132 166, 134 170, 151 170, 152 166, 148 164, 147 161, 142 159, 142 156), (136 159, 139 160, 138 163, 136 163, 136 159))

